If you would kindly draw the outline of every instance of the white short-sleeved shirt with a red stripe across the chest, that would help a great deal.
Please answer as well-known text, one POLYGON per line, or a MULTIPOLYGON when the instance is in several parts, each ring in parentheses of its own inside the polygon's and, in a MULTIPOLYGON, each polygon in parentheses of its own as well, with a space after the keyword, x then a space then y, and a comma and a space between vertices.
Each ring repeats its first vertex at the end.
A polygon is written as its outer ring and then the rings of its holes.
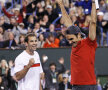
POLYGON ((34 55, 29 55, 25 50, 16 57, 14 72, 21 71, 29 60, 34 58, 35 64, 28 70, 23 79, 18 81, 18 90, 39 90, 40 73, 43 72, 39 54, 34 51, 34 55))

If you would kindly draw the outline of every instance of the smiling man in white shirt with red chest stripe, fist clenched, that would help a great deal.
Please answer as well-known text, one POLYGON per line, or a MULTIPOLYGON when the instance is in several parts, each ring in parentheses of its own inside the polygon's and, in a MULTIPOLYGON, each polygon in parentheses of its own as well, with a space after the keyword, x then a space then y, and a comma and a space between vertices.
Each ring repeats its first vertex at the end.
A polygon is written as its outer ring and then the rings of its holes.
POLYGON ((43 69, 39 54, 35 51, 37 38, 35 34, 29 33, 25 37, 26 50, 15 59, 14 72, 18 80, 18 90, 41 90, 40 78, 43 69))

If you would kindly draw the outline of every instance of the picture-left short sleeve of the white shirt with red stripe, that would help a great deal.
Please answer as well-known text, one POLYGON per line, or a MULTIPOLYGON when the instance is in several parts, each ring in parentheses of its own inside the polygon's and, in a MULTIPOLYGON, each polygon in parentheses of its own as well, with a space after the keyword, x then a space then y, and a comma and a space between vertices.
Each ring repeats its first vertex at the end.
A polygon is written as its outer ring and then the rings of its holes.
POLYGON ((21 61, 22 61, 21 58, 16 58, 15 59, 14 73, 17 73, 24 68, 24 65, 21 61))

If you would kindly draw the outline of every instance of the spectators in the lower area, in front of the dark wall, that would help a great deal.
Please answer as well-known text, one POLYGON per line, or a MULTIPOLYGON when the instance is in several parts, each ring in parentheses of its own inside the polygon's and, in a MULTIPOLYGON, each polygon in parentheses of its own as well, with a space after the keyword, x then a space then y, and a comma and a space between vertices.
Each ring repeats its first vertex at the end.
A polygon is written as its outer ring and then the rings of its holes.
MULTIPOLYGON (((71 90, 70 85, 70 70, 64 65, 64 58, 60 57, 58 60, 59 64, 55 62, 48 63, 48 57, 42 56, 42 67, 45 73, 45 77, 41 80, 43 90, 71 90), (49 65, 48 65, 49 64, 49 65)), ((8 62, 4 59, 0 62, 0 90, 17 90, 17 80, 14 77, 14 62, 9 60, 8 62)), ((106 82, 103 86, 100 79, 97 78, 98 90, 107 90, 108 83, 106 82)))

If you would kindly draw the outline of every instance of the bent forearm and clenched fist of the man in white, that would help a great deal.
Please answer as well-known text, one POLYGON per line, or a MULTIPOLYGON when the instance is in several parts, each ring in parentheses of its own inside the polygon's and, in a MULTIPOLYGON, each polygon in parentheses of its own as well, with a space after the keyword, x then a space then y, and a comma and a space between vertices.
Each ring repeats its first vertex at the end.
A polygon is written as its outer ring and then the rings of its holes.
POLYGON ((26 67, 24 67, 23 70, 21 70, 21 71, 19 71, 19 72, 17 72, 17 73, 15 74, 16 79, 17 79, 17 80, 21 80, 22 78, 24 78, 25 75, 27 74, 28 70, 30 69, 30 67, 31 67, 33 64, 34 64, 34 59, 31 58, 30 61, 29 61, 29 64, 28 64, 26 67))

